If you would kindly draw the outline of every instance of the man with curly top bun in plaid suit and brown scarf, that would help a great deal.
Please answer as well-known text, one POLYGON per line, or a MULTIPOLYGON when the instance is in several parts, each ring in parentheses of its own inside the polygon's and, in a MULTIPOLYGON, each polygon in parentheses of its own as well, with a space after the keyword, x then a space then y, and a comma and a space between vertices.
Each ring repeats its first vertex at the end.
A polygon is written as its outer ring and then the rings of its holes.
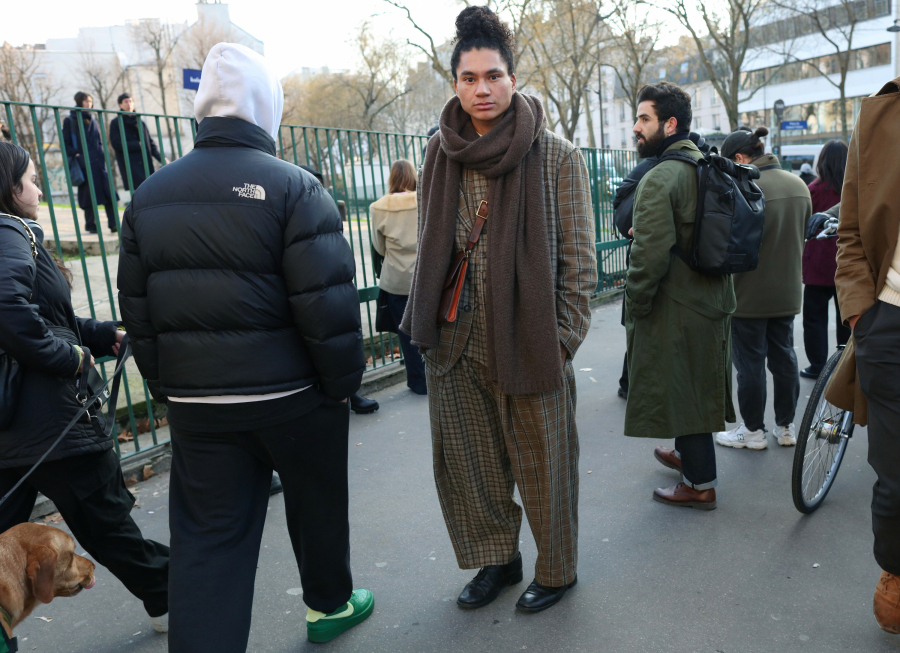
POLYGON ((517 608, 537 612, 576 582, 578 435, 572 357, 597 284, 590 181, 580 152, 516 91, 512 36, 486 7, 456 21, 456 97, 420 171, 419 254, 401 329, 425 356, 434 472, 478 608, 523 579, 522 507, 538 556, 517 608), (458 318, 437 323, 454 253, 482 201, 458 318))

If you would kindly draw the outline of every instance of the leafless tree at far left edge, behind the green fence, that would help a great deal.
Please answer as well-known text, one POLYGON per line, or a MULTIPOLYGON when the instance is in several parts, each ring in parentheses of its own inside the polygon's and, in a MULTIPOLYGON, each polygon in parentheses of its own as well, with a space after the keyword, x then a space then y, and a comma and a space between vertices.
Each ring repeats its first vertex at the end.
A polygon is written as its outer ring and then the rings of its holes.
MULTIPOLYGON (((10 102, 50 104, 59 89, 53 77, 42 71, 36 50, 29 46, 13 47, 9 43, 0 47, 0 97, 10 102)), ((12 124, 7 128, 15 134, 18 144, 31 153, 38 179, 42 179, 40 146, 46 148, 57 140, 53 110, 36 107, 32 115, 29 107, 9 107, 12 124)))

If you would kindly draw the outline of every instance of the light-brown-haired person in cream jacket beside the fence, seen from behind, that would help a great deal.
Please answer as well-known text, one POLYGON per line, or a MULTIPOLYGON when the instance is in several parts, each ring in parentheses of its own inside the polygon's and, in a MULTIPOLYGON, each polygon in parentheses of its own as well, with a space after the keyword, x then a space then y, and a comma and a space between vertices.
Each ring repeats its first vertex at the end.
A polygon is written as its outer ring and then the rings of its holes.
MULTIPOLYGON (((416 169, 406 159, 394 161, 388 177, 388 194, 369 207, 372 245, 384 257, 378 287, 387 295, 388 310, 395 324, 403 320, 413 271, 416 268, 416 169)), ((428 394, 425 362, 409 336, 398 332, 406 385, 417 395, 428 394)))

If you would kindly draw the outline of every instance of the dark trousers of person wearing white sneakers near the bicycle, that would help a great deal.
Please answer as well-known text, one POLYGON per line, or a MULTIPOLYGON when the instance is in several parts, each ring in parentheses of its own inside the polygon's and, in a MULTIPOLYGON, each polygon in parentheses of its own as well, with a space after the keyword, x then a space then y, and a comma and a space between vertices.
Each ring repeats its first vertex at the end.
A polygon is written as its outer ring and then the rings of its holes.
POLYGON ((731 357, 737 369, 738 406, 747 428, 765 428, 767 363, 774 386, 775 424, 793 422, 800 397, 794 317, 731 318, 731 357))

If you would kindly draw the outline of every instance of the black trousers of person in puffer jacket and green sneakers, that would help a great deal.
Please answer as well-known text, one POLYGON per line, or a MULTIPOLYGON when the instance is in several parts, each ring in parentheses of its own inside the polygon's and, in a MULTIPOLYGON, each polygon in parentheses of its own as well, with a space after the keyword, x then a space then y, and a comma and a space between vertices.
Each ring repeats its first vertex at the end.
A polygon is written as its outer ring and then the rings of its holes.
POLYGON ((169 651, 246 650, 273 469, 303 601, 332 612, 350 599, 349 415, 347 403, 326 400, 250 431, 198 433, 173 423, 169 651))

